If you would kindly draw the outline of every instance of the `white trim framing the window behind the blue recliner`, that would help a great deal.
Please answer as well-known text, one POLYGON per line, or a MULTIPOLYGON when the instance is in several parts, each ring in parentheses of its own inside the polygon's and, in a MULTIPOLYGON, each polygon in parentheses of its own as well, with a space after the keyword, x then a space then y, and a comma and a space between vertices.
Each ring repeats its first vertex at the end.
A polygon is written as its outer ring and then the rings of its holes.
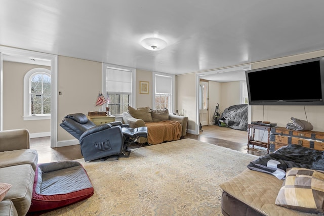
MULTIPOLYGON (((107 77, 107 68, 117 69, 117 70, 126 70, 131 71, 132 73, 132 92, 131 92, 131 106, 136 107, 136 68, 120 66, 120 65, 113 65, 108 63, 102 63, 102 92, 103 95, 106 97, 107 88, 106 88, 106 77, 107 77)), ((105 110, 105 105, 102 105, 102 109, 105 110)), ((123 114, 114 115, 116 118, 122 117, 123 114)))

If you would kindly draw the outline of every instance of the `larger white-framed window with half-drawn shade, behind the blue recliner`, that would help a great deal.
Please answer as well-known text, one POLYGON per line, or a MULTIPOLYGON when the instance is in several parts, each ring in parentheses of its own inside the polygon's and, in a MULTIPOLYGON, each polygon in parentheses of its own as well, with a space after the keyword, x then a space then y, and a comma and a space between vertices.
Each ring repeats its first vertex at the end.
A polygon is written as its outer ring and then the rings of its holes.
POLYGON ((105 106, 110 108, 111 115, 121 115, 135 101, 133 80, 136 70, 108 64, 104 64, 103 68, 103 92, 107 92, 108 98, 105 106))

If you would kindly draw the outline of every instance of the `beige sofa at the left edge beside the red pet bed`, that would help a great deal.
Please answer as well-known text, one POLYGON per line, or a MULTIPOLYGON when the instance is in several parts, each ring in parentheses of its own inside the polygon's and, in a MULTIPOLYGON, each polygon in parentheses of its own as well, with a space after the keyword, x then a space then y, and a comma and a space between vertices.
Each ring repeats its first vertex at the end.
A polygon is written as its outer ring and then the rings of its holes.
POLYGON ((0 132, 0 215, 27 214, 37 161, 27 129, 0 132))

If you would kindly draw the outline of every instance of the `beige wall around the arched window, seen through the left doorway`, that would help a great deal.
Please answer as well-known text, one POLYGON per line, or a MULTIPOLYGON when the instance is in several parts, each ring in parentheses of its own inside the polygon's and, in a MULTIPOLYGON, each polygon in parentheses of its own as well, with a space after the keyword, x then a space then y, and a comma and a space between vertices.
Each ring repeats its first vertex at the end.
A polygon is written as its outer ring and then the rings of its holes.
POLYGON ((25 74, 33 68, 47 66, 4 61, 3 64, 3 129, 26 128, 33 133, 47 133, 51 131, 51 121, 23 120, 23 81, 25 74))

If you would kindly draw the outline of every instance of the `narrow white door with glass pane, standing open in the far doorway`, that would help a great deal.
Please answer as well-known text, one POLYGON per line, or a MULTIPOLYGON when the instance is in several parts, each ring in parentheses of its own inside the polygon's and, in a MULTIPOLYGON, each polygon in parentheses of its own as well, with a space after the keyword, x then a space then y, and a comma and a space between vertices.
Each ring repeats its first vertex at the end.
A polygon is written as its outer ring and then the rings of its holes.
POLYGON ((199 121, 208 125, 208 82, 199 82, 199 121))

